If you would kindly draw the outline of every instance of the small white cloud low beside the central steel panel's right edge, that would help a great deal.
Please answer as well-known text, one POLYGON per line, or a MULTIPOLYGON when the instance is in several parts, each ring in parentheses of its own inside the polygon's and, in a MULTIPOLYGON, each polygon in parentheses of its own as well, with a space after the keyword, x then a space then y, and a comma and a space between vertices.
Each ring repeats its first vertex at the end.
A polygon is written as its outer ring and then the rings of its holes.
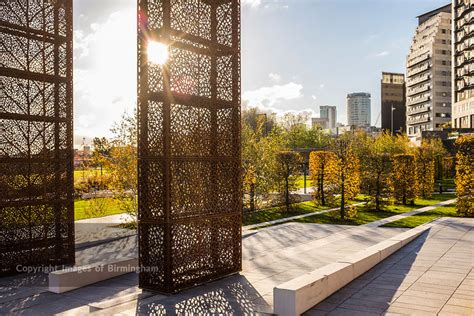
POLYGON ((290 82, 284 85, 274 85, 246 91, 242 98, 248 106, 270 108, 281 101, 301 98, 303 96, 301 93, 302 89, 302 85, 290 82))

